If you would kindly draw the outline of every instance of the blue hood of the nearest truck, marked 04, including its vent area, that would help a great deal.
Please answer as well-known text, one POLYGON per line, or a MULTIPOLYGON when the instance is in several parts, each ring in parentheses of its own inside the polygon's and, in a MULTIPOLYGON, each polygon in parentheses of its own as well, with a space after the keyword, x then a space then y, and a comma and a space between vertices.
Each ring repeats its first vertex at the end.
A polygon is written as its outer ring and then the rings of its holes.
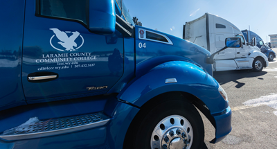
POLYGON ((143 26, 136 26, 136 40, 137 43, 141 43, 136 45, 136 63, 141 64, 150 59, 159 59, 162 56, 173 56, 168 58, 167 60, 162 61, 172 61, 172 60, 184 60, 196 64, 198 67, 201 67, 204 71, 213 76, 212 64, 206 63, 206 58, 211 55, 209 51, 198 46, 197 44, 193 44, 192 42, 188 42, 179 37, 175 37, 173 35, 169 35, 166 33, 159 32, 158 30, 152 30, 150 28, 145 28, 143 26), (141 31, 140 33, 140 30, 141 31), (145 36, 141 36, 141 34, 146 34, 145 36), (147 33, 156 34, 156 38, 147 38, 147 33), (141 39, 141 37, 145 37, 141 39), (159 40, 159 38, 163 37, 167 39, 168 42, 163 42, 159 40), (142 45, 145 45, 144 47, 142 45))

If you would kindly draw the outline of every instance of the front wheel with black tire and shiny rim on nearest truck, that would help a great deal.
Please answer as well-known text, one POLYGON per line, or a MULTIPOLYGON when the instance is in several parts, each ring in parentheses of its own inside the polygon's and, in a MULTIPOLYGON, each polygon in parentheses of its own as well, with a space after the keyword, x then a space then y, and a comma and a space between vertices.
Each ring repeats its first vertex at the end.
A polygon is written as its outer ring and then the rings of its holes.
POLYGON ((131 133, 125 137, 127 139, 125 143, 128 143, 125 148, 163 149, 163 146, 180 149, 186 146, 202 148, 204 143, 202 118, 191 103, 179 98, 157 105, 141 118, 141 121, 137 121, 139 125, 128 130, 131 133), (167 135, 169 136, 166 137, 167 135))

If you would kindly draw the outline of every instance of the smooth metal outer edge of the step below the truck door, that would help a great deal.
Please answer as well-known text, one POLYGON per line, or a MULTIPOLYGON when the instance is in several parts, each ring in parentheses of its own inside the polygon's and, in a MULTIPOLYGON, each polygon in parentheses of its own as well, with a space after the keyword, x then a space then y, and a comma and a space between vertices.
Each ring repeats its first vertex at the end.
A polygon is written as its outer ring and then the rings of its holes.
POLYGON ((47 132, 37 132, 37 133, 30 133, 30 134, 13 134, 13 135, 0 135, 1 139, 5 139, 8 141, 15 141, 15 140, 23 140, 23 139, 36 139, 40 137, 49 137, 53 135, 60 135, 70 132, 76 132, 80 130, 87 130, 90 128, 96 128, 101 125, 105 125, 110 119, 98 121, 95 123, 89 123, 87 125, 80 125, 73 128, 64 128, 60 130, 52 130, 47 132))

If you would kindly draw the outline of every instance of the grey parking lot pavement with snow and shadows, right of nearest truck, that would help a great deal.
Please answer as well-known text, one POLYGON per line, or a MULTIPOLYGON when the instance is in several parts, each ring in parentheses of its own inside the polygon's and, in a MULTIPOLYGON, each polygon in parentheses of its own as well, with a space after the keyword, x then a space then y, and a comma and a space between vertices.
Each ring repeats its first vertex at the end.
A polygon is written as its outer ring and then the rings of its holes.
MULTIPOLYGON (((277 53, 277 49, 273 49, 277 53)), ((261 72, 251 70, 215 72, 232 109, 231 133, 211 144, 213 126, 204 119, 207 148, 277 148, 277 60, 261 72)))

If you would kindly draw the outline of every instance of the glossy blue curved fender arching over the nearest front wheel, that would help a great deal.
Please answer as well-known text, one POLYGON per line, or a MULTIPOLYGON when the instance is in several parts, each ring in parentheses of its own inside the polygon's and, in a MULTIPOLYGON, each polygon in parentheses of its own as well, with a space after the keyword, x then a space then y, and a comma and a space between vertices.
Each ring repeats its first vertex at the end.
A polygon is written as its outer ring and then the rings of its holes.
POLYGON ((202 100, 211 109, 211 114, 215 114, 229 106, 220 95, 218 87, 218 82, 197 65, 172 61, 159 64, 143 76, 135 78, 117 97, 141 107, 159 94, 184 91, 202 100), (176 78, 177 82, 166 83, 167 78, 176 78))

